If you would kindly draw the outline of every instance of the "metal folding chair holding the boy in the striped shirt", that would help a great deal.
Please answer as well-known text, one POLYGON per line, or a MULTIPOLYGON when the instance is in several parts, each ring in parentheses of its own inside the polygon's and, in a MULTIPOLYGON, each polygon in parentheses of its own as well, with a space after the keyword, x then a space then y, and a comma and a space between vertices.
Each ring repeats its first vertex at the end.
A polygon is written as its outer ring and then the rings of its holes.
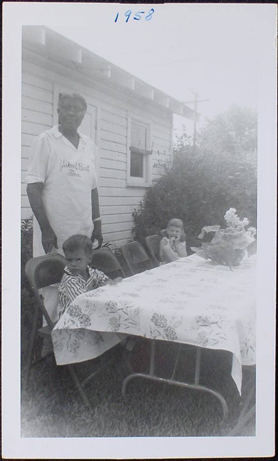
MULTIPOLYGON (((29 377, 30 377, 30 370, 32 366, 32 360, 34 355, 34 345, 35 345, 35 337, 40 336, 50 337, 51 338, 51 331, 55 326, 56 322, 52 322, 51 318, 48 315, 48 312, 43 303, 43 297, 39 293, 40 288, 44 288, 46 286, 59 283, 62 279, 64 268, 66 266, 66 260, 63 258, 62 255, 59 254, 51 254, 45 256, 39 256, 37 258, 32 258, 27 261, 25 266, 25 272, 27 279, 33 289, 36 306, 35 306, 35 316, 32 326, 32 332, 30 336, 30 348, 27 357, 27 372, 26 372, 26 384, 28 384, 29 377), (45 318, 47 325, 39 328, 39 313, 41 312, 42 316, 45 318)), ((70 376, 76 385, 84 404, 90 407, 90 402, 88 397, 84 391, 84 385, 87 383, 93 376, 96 375, 98 372, 94 372, 89 377, 87 377, 82 382, 77 377, 75 370, 73 369, 73 365, 64 365, 68 368, 70 376)))

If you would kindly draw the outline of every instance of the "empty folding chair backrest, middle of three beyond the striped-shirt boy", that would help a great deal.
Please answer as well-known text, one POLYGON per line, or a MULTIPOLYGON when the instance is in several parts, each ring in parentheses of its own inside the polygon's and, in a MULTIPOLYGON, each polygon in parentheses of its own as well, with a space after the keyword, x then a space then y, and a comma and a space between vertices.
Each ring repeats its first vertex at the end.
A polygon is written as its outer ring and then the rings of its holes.
POLYGON ((152 269, 151 261, 139 242, 126 243, 121 247, 121 252, 133 274, 152 269))

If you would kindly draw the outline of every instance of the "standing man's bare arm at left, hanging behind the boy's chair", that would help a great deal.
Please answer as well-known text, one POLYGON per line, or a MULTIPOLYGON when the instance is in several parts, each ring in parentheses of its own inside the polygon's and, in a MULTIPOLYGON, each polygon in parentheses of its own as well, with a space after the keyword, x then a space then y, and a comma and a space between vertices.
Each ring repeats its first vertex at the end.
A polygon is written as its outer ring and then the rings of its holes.
POLYGON ((49 253, 52 247, 58 248, 57 237, 52 230, 42 201, 43 183, 31 183, 27 185, 27 195, 32 211, 41 230, 41 243, 45 253, 49 253))

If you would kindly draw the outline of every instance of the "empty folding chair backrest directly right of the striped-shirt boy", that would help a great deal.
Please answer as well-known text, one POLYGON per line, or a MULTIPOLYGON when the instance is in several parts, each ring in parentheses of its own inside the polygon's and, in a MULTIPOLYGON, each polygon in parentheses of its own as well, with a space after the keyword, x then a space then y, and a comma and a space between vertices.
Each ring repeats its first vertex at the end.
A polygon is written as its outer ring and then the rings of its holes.
POLYGON ((125 277, 125 273, 116 256, 108 248, 93 251, 91 266, 102 270, 109 278, 125 277))

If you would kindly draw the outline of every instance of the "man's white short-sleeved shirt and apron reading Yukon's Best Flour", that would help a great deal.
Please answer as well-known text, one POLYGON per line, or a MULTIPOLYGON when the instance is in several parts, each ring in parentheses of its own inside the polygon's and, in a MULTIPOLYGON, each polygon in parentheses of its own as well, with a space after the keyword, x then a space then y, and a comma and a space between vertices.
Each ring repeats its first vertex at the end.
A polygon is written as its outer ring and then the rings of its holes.
MULTIPOLYGON (((97 146, 89 137, 79 132, 78 135, 76 149, 58 125, 41 133, 32 145, 26 177, 27 184, 44 184, 43 204, 59 249, 70 235, 90 237, 93 231, 91 191, 97 187, 97 146)), ((37 240, 39 245, 40 235, 37 240)))

